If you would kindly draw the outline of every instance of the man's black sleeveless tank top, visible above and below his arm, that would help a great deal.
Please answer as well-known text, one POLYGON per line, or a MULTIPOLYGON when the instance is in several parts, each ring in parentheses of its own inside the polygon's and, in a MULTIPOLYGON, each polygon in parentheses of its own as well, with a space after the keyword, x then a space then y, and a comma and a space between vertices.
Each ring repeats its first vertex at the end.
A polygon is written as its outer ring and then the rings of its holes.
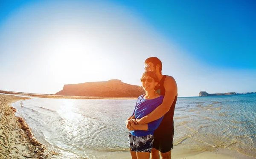
MULTIPOLYGON (((163 87, 165 79, 166 79, 166 75, 162 77, 162 79, 158 82, 158 85, 155 87, 155 91, 162 96, 165 95, 165 88, 163 87)), ((171 133, 174 133, 173 115, 174 115, 176 101, 177 101, 177 96, 175 96, 175 99, 172 102, 172 106, 170 110, 163 116, 163 120, 159 125, 159 127, 157 128, 157 130, 155 131, 155 133, 157 132, 163 133, 163 131, 166 133, 169 131, 171 131, 171 133)))

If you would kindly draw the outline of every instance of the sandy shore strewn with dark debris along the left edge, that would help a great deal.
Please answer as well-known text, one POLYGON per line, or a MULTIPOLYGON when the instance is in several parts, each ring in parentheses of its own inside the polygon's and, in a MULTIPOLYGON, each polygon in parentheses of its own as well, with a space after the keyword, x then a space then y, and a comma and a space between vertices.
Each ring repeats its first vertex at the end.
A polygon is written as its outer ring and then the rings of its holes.
POLYGON ((15 116, 11 103, 26 99, 0 94, 0 158, 46 159, 53 153, 34 137, 22 118, 15 116))

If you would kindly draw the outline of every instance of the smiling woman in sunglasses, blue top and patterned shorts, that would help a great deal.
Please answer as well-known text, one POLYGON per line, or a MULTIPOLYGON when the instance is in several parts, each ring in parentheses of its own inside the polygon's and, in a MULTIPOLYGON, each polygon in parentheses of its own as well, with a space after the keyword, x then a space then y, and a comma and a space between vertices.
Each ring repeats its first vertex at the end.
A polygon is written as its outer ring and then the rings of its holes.
POLYGON ((145 71, 140 79, 142 82, 145 94, 137 99, 133 114, 126 120, 129 133, 130 153, 132 159, 149 159, 154 141, 154 130, 160 125, 163 116, 148 124, 131 125, 130 119, 134 116, 135 119, 142 118, 148 115, 163 102, 163 96, 160 96, 154 91, 157 86, 157 76, 152 71, 145 71))

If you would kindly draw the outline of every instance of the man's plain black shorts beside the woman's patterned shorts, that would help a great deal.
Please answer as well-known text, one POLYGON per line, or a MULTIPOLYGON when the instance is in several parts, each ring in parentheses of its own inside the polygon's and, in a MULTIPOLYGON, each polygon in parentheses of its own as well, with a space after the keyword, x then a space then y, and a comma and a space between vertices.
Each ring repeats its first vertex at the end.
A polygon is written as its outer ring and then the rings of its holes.
POLYGON ((154 133, 153 148, 159 150, 161 153, 169 152, 173 147, 173 132, 154 133))

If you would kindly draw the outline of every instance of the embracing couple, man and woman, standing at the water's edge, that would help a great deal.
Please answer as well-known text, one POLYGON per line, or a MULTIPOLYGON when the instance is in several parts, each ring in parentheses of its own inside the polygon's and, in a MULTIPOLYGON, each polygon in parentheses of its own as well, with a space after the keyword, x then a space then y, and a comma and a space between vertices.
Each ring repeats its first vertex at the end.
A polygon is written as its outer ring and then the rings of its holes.
POLYGON ((145 94, 138 97, 133 114, 126 120, 132 159, 171 159, 173 115, 177 101, 177 84, 162 74, 157 57, 145 60, 141 78, 145 94), (159 154, 160 152, 160 154, 159 154))

